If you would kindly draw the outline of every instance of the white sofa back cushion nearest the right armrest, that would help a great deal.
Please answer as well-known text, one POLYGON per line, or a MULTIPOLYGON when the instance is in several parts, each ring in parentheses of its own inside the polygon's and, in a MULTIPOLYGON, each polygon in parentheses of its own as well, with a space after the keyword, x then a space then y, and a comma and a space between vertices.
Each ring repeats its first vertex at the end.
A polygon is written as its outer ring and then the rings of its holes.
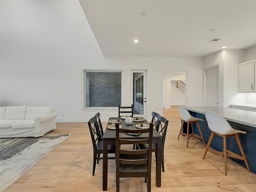
POLYGON ((52 107, 35 107, 29 106, 27 110, 27 114, 25 120, 35 119, 36 117, 53 113, 52 107))

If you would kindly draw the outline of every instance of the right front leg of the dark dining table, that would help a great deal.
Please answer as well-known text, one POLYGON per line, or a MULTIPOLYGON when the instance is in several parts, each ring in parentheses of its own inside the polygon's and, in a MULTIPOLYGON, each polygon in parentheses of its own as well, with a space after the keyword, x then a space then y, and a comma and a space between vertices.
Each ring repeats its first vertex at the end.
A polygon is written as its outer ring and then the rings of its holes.
POLYGON ((157 139, 156 145, 156 186, 161 187, 162 174, 162 138, 157 139))

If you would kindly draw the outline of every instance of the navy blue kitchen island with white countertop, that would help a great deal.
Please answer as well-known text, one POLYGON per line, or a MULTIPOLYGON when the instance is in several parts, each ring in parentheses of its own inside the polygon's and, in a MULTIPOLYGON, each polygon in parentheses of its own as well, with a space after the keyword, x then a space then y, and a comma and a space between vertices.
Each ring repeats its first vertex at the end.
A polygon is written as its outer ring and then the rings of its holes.
MULTIPOLYGON (((218 106, 185 106, 185 108, 192 116, 203 119, 203 121, 199 121, 199 124, 204 137, 204 142, 206 144, 209 141, 212 131, 208 127, 206 118, 204 116, 204 111, 215 112, 224 117, 232 128, 246 131, 247 134, 239 134, 239 138, 250 170, 256 174, 256 112, 218 106)), ((186 125, 184 125, 183 129, 186 129, 186 125)), ((199 134, 197 129, 195 129, 194 132, 199 134)), ((236 139, 234 137, 228 137, 226 141, 228 150, 241 155, 238 144, 236 143, 236 139)), ((222 152, 222 137, 215 135, 212 140, 211 147, 222 152)), ((245 167, 243 160, 235 158, 230 159, 245 167)))

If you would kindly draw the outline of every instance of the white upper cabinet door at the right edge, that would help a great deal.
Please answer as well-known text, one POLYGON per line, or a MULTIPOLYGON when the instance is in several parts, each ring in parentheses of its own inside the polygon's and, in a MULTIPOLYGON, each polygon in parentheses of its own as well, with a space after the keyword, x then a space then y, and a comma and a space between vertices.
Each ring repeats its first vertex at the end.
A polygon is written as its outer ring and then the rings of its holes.
POLYGON ((254 92, 254 62, 238 66, 239 92, 254 92))

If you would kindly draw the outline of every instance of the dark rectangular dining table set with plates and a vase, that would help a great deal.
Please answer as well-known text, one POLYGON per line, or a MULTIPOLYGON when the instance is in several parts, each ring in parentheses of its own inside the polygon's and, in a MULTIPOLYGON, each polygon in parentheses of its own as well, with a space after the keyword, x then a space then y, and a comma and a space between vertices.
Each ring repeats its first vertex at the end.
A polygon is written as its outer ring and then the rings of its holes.
MULTIPOLYGON (((110 117, 109 120, 118 120, 120 119, 119 125, 125 129, 138 129, 136 127, 137 124, 148 124, 148 122, 144 119, 143 121, 134 120, 132 124, 128 125, 125 123, 124 118, 120 117, 110 117)), ((108 122, 108 125, 111 123, 108 122)), ((108 128, 104 132, 102 137, 103 139, 103 174, 102 174, 102 190, 108 190, 108 145, 115 145, 116 144, 116 130, 115 128, 108 128)), ((124 133, 120 133, 120 138, 146 138, 148 134, 143 133, 138 136, 128 135, 124 133)), ((162 135, 159 134, 155 129, 153 129, 153 141, 156 144, 156 186, 161 187, 161 173, 162 173, 162 135)))

